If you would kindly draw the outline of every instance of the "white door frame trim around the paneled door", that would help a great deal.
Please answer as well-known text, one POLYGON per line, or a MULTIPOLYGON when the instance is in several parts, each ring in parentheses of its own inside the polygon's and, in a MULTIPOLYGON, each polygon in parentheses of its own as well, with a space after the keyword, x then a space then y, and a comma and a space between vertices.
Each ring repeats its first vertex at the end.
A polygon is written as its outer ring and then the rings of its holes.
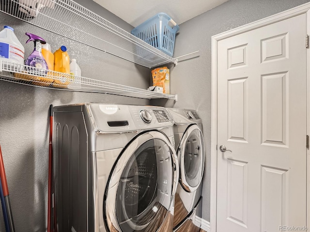
MULTIPOLYGON (((217 43, 220 40, 261 28, 271 23, 307 14, 307 35, 310 35, 310 3, 305 3, 279 14, 263 18, 247 25, 212 36, 212 113, 211 113, 211 202, 210 202, 210 232, 217 231, 217 43)), ((306 35, 305 35, 306 46, 306 35)), ((310 49, 307 49, 307 134, 310 134, 310 49)), ((306 138, 305 138, 306 141, 306 138)), ((306 154, 305 154, 306 155, 306 154)), ((310 183, 310 151, 307 151, 307 183, 310 183)), ((307 226, 310 227, 310 185, 307 185, 307 226)))

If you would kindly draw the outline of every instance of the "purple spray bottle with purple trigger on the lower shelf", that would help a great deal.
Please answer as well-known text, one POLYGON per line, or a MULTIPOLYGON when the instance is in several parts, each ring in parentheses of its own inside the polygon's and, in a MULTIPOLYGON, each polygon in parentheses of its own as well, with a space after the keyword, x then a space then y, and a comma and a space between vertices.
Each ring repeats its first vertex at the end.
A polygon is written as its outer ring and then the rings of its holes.
POLYGON ((31 55, 26 59, 25 64, 39 69, 40 74, 45 74, 46 71, 44 70, 48 70, 48 66, 41 51, 42 51, 42 44, 45 44, 47 42, 37 35, 31 34, 28 32, 26 32, 26 35, 29 36, 29 40, 27 40, 26 43, 33 41, 34 50, 31 53, 31 55), (41 69, 43 70, 41 71, 41 69))

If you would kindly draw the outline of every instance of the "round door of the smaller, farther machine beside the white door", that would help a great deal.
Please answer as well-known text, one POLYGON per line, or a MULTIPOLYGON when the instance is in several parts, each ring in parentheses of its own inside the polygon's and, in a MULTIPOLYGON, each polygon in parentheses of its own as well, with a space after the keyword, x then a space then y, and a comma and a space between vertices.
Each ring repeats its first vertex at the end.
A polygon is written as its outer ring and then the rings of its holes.
POLYGON ((179 151, 182 186, 187 191, 194 191, 202 181, 204 168, 203 137, 197 125, 191 125, 186 129, 179 151))

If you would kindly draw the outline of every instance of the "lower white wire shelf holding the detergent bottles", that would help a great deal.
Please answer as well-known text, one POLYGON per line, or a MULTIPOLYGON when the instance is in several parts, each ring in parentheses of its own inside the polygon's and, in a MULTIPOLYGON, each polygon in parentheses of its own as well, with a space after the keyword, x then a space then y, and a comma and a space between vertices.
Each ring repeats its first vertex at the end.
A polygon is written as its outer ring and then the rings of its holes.
POLYGON ((157 93, 146 89, 129 87, 92 78, 37 69, 0 59, 0 79, 23 85, 80 92, 109 93, 128 97, 177 101, 177 95, 157 93))

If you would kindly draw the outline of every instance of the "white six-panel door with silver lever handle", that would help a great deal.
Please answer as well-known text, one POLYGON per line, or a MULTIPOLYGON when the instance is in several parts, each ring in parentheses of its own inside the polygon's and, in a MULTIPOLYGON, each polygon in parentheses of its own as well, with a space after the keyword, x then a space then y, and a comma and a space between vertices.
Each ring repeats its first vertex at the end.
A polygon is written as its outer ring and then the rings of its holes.
POLYGON ((306 226, 305 41, 300 14, 218 42, 217 232, 306 226))

